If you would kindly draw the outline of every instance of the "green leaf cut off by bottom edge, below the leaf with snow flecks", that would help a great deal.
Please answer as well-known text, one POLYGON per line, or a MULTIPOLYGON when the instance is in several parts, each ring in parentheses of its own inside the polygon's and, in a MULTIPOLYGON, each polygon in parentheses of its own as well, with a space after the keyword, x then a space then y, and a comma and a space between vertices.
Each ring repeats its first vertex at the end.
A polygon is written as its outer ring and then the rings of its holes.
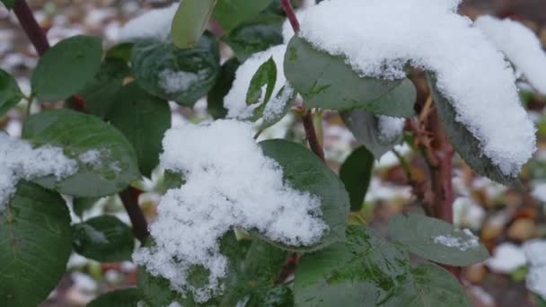
POLYGON ((387 303, 405 307, 471 307, 455 277, 432 263, 421 263, 410 270, 406 285, 397 289, 387 303))

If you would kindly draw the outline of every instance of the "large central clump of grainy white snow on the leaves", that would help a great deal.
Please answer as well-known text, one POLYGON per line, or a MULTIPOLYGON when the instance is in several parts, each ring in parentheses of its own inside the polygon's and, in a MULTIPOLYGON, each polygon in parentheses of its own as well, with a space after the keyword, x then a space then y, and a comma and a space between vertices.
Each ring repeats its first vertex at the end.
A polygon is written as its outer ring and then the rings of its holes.
POLYGON ((233 228, 295 246, 311 245, 328 231, 321 199, 291 188, 252 136, 250 124, 216 120, 174 127, 163 139, 162 166, 183 173, 187 182, 162 197, 150 226, 156 245, 137 250, 133 259, 198 302, 223 290, 229 264, 218 240, 233 228), (196 267, 209 272, 203 287, 189 285, 196 267))

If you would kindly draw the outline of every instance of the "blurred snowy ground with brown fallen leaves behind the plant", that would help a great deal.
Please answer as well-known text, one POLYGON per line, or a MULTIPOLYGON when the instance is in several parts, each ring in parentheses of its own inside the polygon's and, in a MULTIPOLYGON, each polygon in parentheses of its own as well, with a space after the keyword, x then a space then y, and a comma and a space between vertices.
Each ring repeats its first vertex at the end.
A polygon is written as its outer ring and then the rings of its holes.
MULTIPOLYGON (((161 0, 28 2, 40 25, 48 30, 51 44, 77 34, 89 34, 101 36, 105 48, 115 43, 120 27, 131 17, 154 7, 172 4, 172 1, 161 0)), ((461 13, 471 18, 489 13, 524 22, 546 46, 545 0, 465 0, 461 13)), ((229 48, 223 48, 224 57, 228 57, 229 48)), ((13 13, 0 6, 0 67, 16 76, 22 91, 28 94, 31 70, 36 63, 36 52, 13 13)), ((414 76, 414 81, 418 85, 419 99, 426 98, 427 89, 420 82, 419 75, 414 76)), ((464 284, 475 306, 546 306, 546 266, 538 271, 543 272, 542 289, 535 289, 537 293, 542 292, 544 297, 529 291, 526 283, 530 272, 538 274, 531 269, 533 266, 536 268, 537 263, 546 264, 546 97, 527 92, 524 84, 521 95, 539 134, 539 151, 522 173, 527 189, 521 191, 500 186, 475 176, 463 162, 455 161, 454 187, 457 199, 454 204, 454 222, 477 233, 492 255, 488 261, 463 270, 464 284), (533 253, 525 253, 524 246, 529 246, 525 245, 529 242, 533 242, 533 253), (542 262, 533 257, 542 258, 542 262)), ((0 128, 12 136, 21 134, 21 119, 26 108, 23 103, 0 118, 0 128)), ((40 105, 35 103, 32 108, 32 112, 39 111, 40 105)), ((197 122, 210 119, 205 100, 199 101, 193 110, 181 109, 175 104, 172 104, 172 110, 172 125, 188 120, 197 122)), ((324 114, 323 136, 328 162, 332 169, 338 170, 339 164, 357 144, 335 113, 324 114)), ((303 129, 292 116, 287 116, 266 130, 261 137, 285 137, 304 142, 303 129)), ((421 210, 415 197, 411 196, 401 160, 409 163, 414 179, 427 178, 426 165, 414 153, 411 145, 399 145, 396 151, 400 153, 399 156, 387 153, 376 163, 365 207, 360 213, 351 215, 355 223, 369 224, 383 233, 386 232, 389 216, 402 210, 421 210)), ((140 188, 145 190, 139 202, 150 221, 154 220, 155 206, 163 192, 162 177, 162 171, 158 170, 152 178, 139 183, 140 188)), ((117 215, 129 223, 118 197, 102 198, 92 206, 74 213, 73 218, 80 221, 102 214, 117 215)), ((63 281, 41 306, 84 306, 98 294, 135 285, 136 281, 136 267, 129 261, 101 264, 75 254, 68 263, 63 281)))

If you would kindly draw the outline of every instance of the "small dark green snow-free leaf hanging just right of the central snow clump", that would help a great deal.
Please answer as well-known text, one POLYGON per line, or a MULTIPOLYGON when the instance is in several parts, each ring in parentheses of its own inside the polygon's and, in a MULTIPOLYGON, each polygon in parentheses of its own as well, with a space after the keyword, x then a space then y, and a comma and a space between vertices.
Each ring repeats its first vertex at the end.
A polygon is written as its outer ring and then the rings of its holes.
POLYGON ((351 201, 351 211, 360 211, 364 203, 365 193, 372 179, 374 155, 365 147, 357 148, 341 164, 339 179, 345 184, 351 201))

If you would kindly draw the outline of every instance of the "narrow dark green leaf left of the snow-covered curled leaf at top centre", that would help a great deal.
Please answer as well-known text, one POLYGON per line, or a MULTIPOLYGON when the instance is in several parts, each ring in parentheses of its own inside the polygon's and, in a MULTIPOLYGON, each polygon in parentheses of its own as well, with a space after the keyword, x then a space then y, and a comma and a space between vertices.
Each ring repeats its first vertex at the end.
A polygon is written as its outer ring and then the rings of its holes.
POLYGON ((215 119, 225 118, 227 115, 227 109, 224 108, 224 97, 232 89, 235 72, 240 65, 241 63, 236 57, 225 61, 215 86, 208 92, 207 110, 215 119))

